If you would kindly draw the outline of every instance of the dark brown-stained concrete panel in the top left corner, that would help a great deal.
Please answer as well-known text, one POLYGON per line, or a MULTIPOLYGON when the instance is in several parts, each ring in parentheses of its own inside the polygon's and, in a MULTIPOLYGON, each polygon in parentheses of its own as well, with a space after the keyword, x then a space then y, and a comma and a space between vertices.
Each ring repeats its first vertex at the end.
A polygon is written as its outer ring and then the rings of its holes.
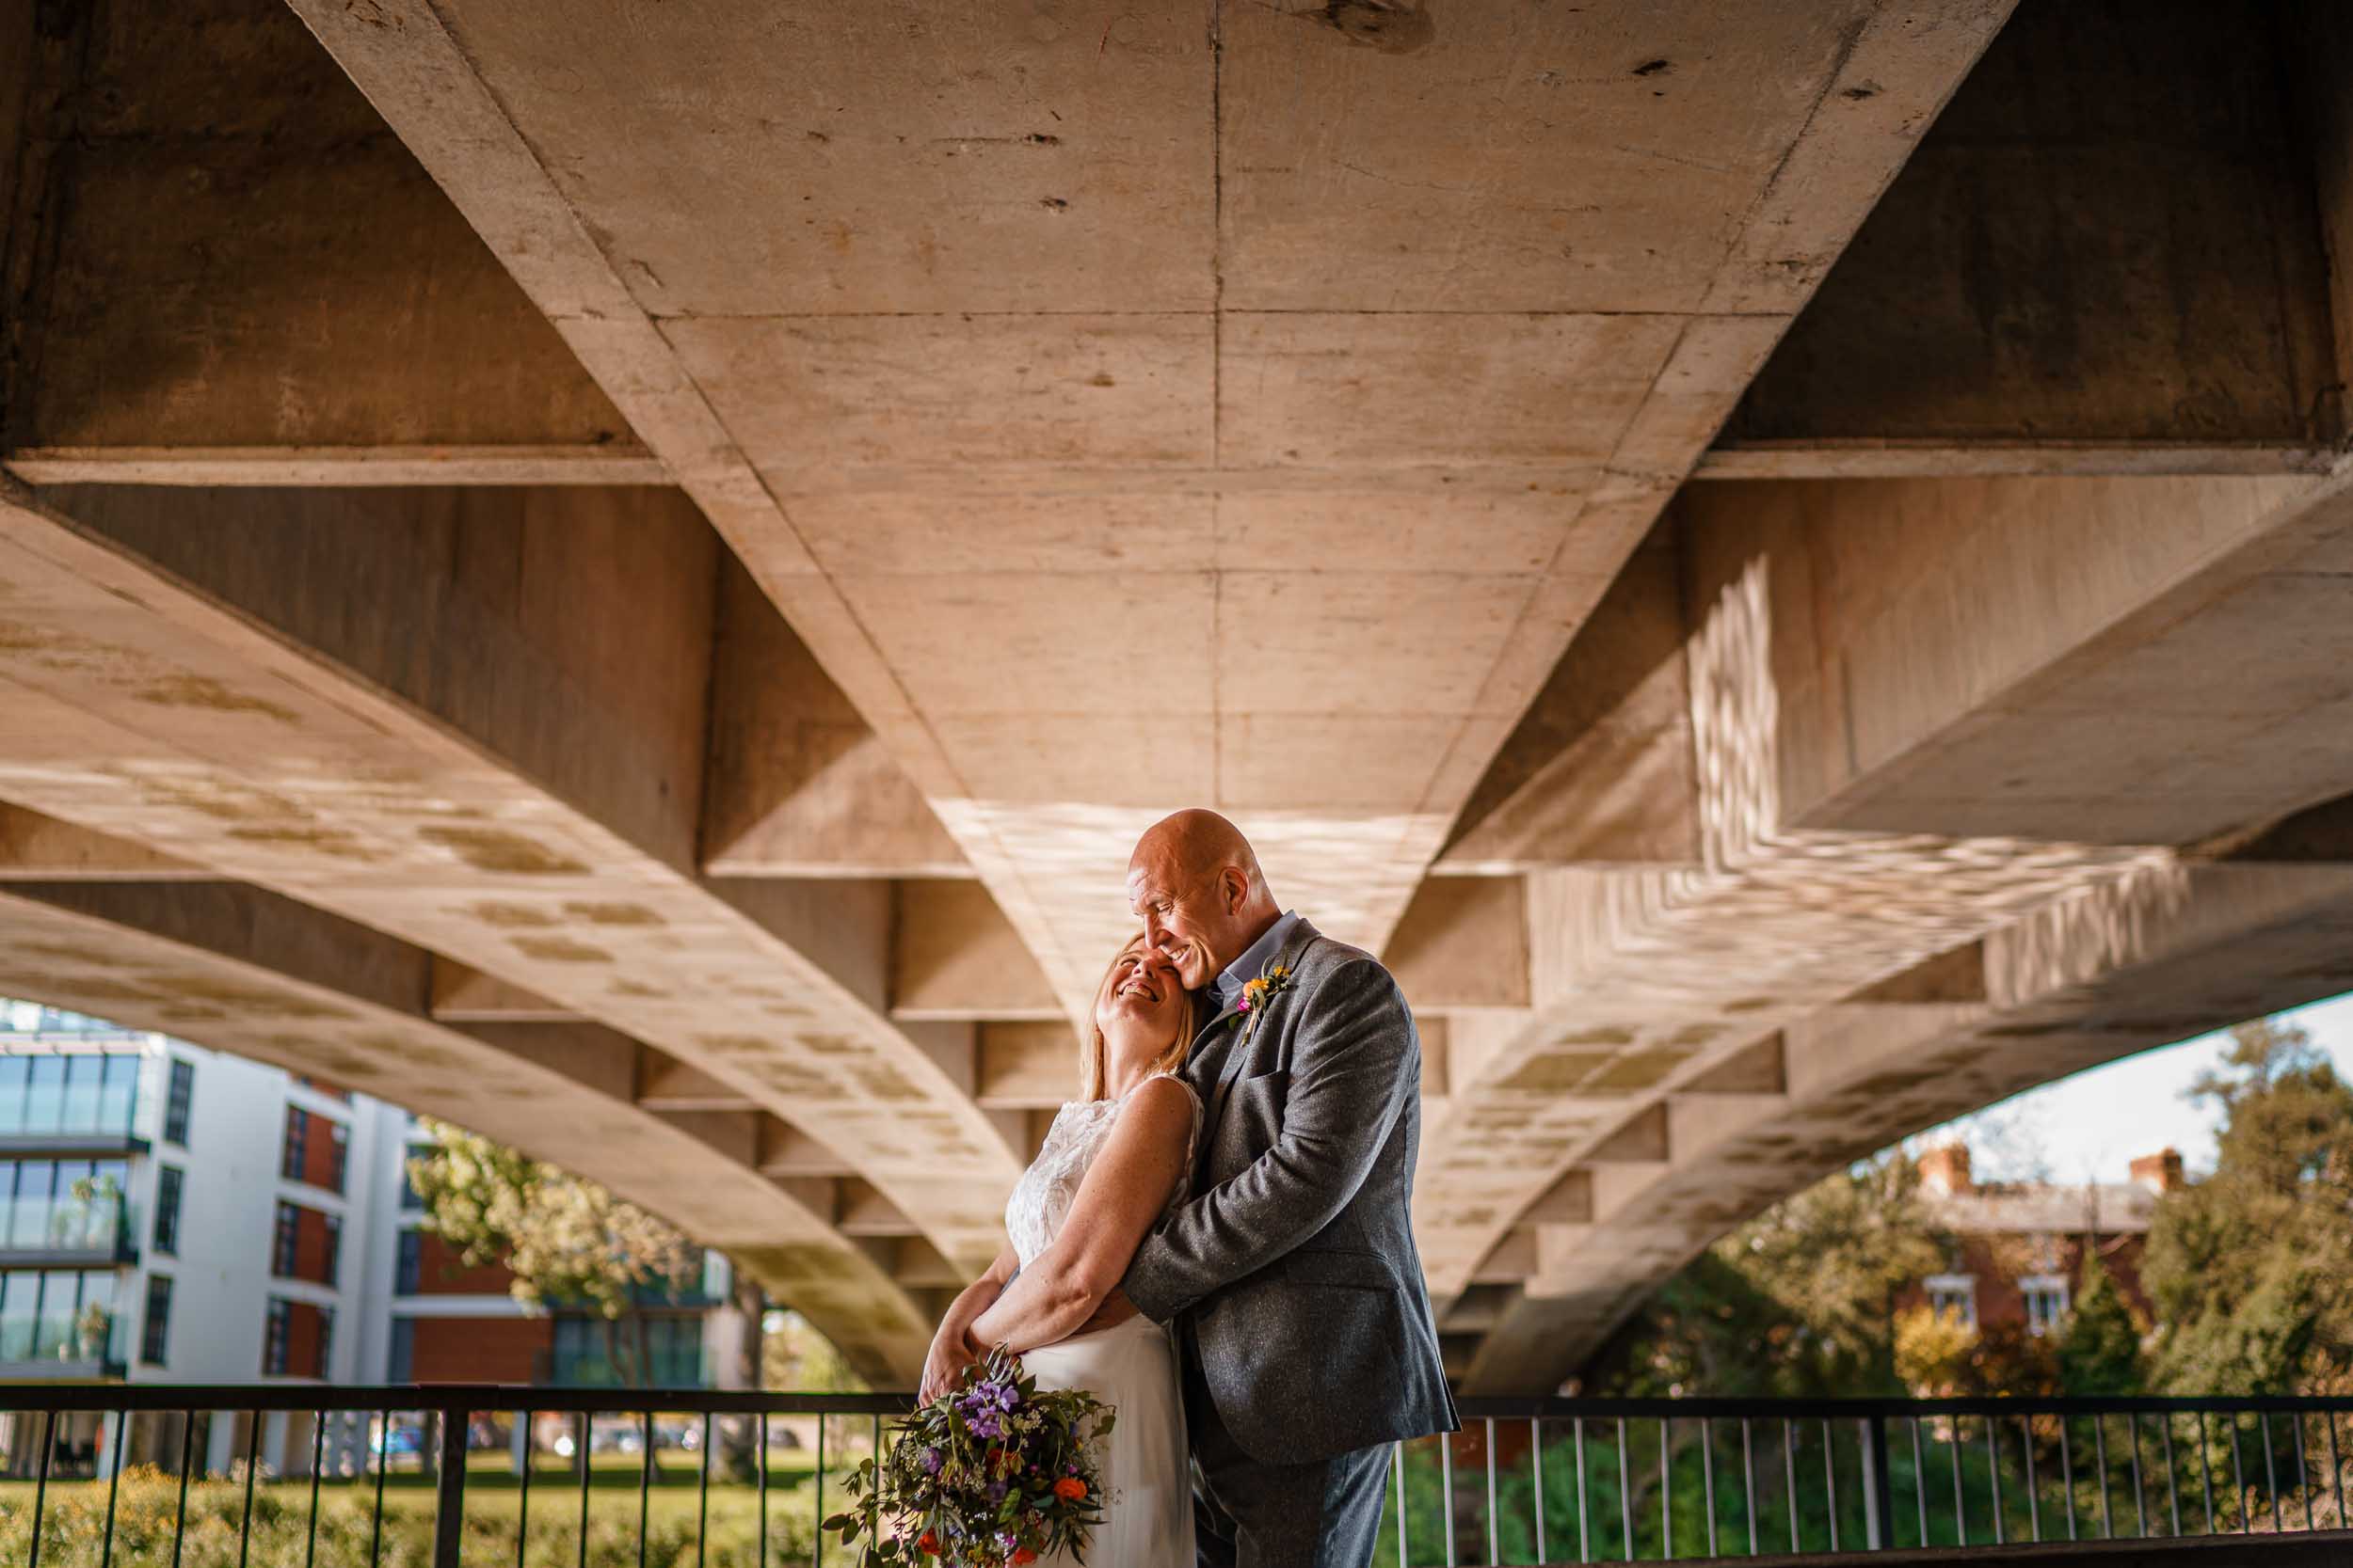
MULTIPOLYGON (((649 484, 664 465, 301 24, 73 7, 28 89, 0 461, 35 484, 649 484), (233 106, 233 108, 224 108, 233 106)), ((9 129, 9 127, 0 127, 9 129)))

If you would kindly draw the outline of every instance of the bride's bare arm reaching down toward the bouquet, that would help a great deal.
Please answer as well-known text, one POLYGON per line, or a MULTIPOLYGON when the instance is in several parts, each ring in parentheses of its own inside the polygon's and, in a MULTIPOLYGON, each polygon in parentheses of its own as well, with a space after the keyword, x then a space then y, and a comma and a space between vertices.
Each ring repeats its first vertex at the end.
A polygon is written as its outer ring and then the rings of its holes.
POLYGON ((1193 1093, 1174 1079, 1141 1084, 1071 1199, 1054 1246, 972 1324, 976 1345, 1033 1349, 1075 1333, 1104 1305, 1136 1244, 1167 1208, 1193 1145, 1193 1093))

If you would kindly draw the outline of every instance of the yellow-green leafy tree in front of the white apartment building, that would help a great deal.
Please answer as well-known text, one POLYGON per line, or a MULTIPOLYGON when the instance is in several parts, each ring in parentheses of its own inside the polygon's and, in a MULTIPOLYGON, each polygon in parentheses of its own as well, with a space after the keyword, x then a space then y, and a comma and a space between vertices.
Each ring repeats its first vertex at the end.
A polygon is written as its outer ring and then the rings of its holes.
POLYGON ((619 1333, 642 1295, 678 1291, 701 1272, 701 1248, 666 1220, 602 1187, 442 1121, 433 1152, 409 1161, 426 1222, 468 1265, 501 1262, 527 1307, 586 1307, 605 1319, 614 1375, 645 1380, 642 1316, 619 1333))

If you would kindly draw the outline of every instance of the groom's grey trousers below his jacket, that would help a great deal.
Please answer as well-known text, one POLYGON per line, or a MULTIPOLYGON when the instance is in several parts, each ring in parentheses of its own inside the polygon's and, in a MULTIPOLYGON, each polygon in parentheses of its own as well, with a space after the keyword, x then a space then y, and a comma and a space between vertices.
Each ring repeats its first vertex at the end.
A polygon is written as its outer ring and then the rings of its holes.
MULTIPOLYGON (((1191 1380, 1188 1380, 1191 1382, 1191 1380)), ((1193 1422, 1193 1556, 1200 1568, 1367 1568, 1381 1533, 1388 1443, 1311 1465, 1268 1465, 1188 1399, 1193 1422)))

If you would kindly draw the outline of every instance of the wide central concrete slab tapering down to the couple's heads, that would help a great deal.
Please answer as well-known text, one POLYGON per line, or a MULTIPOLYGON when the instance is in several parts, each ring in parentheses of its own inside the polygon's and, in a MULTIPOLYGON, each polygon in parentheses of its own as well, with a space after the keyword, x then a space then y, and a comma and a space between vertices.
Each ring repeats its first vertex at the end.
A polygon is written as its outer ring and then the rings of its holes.
POLYGON ((1219 804, 1289 903, 1386 938, 2009 7, 1824 0, 1737 49, 1706 5, 1464 14, 1381 49, 1247 5, 1207 38, 1108 2, 922 35, 294 9, 1075 1011, 1127 924, 1132 835, 1169 806, 1219 804), (1558 92, 1628 33, 1645 54, 1558 92), (548 35, 576 40, 562 73, 548 35), (638 113, 647 82, 704 106, 692 150, 638 113), (1454 143, 1391 136, 1398 113, 1480 127, 1494 167, 1447 183, 1454 143), (1654 125, 1598 134, 1631 115, 1654 125), (689 155, 711 179, 680 190, 689 155), (1115 686, 1146 672, 1139 724, 1115 686))

